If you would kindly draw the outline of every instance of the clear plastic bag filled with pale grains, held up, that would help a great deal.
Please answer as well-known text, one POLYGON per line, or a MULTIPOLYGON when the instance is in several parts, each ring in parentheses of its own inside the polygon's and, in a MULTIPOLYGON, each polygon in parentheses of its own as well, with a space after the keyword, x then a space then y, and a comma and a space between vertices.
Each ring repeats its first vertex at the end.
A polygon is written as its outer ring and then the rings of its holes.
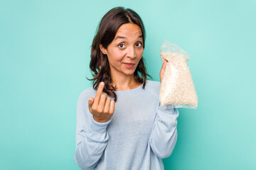
POLYGON ((177 45, 164 40, 161 60, 168 60, 161 79, 159 101, 164 108, 197 108, 198 96, 187 66, 189 54, 177 45))

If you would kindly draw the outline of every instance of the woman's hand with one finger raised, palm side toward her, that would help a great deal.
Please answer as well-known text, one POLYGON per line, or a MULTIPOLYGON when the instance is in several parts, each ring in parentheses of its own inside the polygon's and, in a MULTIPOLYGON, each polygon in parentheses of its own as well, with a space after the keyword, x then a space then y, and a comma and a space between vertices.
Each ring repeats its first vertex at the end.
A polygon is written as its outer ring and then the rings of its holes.
POLYGON ((95 98, 90 97, 88 101, 88 107, 90 113, 92 113, 95 121, 99 123, 105 123, 114 114, 114 100, 107 97, 107 94, 102 94, 104 88, 104 82, 101 82, 95 98))

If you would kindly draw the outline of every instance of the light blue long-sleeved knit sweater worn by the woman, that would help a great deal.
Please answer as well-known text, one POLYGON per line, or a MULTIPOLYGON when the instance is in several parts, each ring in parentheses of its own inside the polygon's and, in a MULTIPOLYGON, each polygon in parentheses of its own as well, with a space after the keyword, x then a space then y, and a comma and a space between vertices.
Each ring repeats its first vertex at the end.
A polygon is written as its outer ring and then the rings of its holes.
POLYGON ((162 108, 159 91, 160 82, 151 80, 146 80, 145 89, 141 85, 115 91, 117 102, 107 123, 96 122, 88 109, 96 91, 82 91, 77 103, 76 164, 86 170, 164 169, 162 159, 176 145, 178 109, 162 108))

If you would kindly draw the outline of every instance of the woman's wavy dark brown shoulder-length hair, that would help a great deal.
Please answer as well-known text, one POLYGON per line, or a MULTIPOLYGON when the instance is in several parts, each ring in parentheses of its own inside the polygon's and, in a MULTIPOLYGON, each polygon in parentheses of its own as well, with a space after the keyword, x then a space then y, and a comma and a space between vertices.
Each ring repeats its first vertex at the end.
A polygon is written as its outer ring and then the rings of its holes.
MULTIPOLYGON (((93 81, 93 89, 95 90, 99 86, 100 82, 104 81, 105 86, 103 91, 107 95, 114 97, 115 102, 117 102, 117 94, 115 94, 114 91, 117 89, 117 87, 112 86, 110 64, 107 59, 107 55, 104 55, 101 52, 100 44, 104 48, 107 48, 112 40, 114 40, 119 27, 124 23, 135 23, 141 28, 143 40, 142 45, 143 48, 145 47, 146 33, 142 23, 142 18, 140 18, 139 15, 130 8, 125 9, 122 6, 112 8, 105 14, 105 16, 103 16, 102 20, 100 21, 100 25, 97 27, 97 34, 92 41, 90 55, 90 69, 94 78, 87 78, 88 80, 93 81)), ((135 79, 139 83, 143 83, 142 89, 144 89, 146 85, 146 76, 152 79, 152 77, 146 72, 144 62, 144 57, 142 57, 134 71, 135 79), (140 77, 139 74, 141 74, 142 77, 140 77)))

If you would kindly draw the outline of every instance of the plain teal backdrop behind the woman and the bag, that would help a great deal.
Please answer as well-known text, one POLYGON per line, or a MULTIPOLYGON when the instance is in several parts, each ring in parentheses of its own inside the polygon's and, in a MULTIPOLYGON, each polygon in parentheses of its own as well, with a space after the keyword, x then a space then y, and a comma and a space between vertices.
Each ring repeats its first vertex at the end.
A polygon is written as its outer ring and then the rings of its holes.
POLYGON ((76 103, 92 86, 86 77, 97 25, 115 6, 142 17, 154 81, 164 40, 191 56, 198 108, 178 109, 165 169, 256 169, 256 1, 247 0, 1 0, 0 169, 80 169, 76 103))

